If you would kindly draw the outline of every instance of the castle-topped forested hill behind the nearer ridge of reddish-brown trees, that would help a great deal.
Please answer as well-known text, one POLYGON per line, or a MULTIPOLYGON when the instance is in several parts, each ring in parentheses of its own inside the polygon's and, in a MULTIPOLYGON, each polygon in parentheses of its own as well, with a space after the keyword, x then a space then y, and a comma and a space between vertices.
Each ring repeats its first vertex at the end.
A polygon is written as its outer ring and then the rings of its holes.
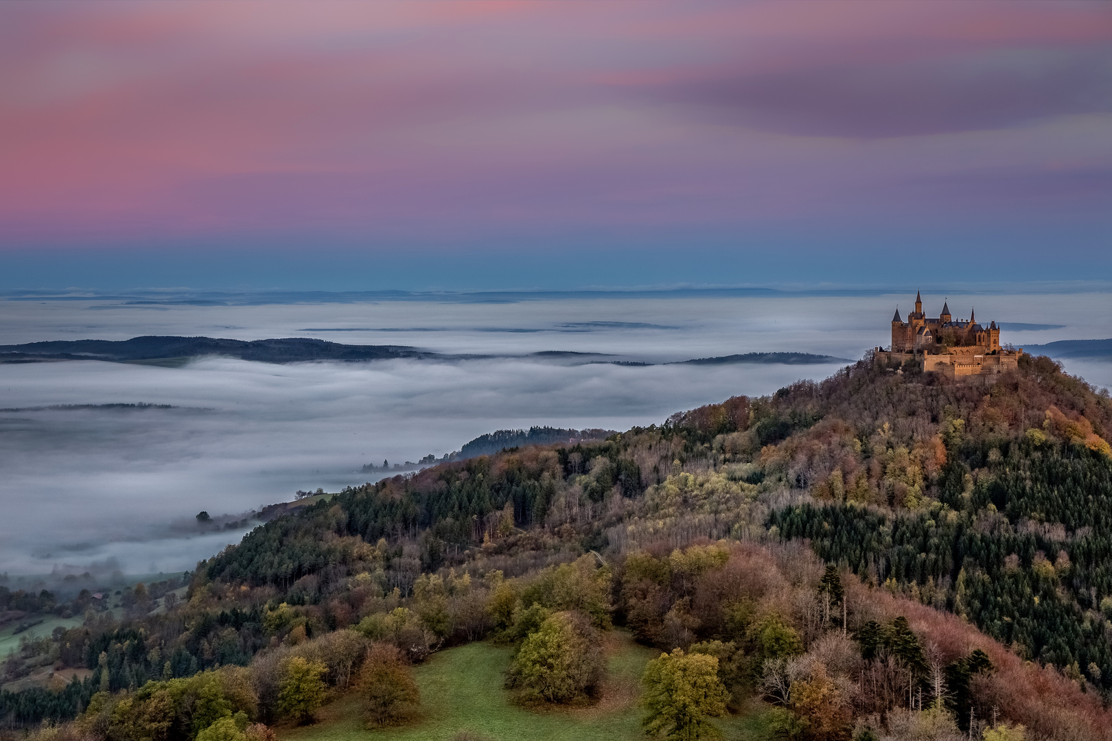
MULTIPOLYGON (((1112 679, 1109 430, 1108 394, 1045 358, 957 382, 862 361, 821 383, 606 441, 349 490, 308 517, 269 523, 206 568, 212 579, 285 589, 348 558, 344 541, 319 537, 325 528, 353 543, 409 539, 420 568, 437 569, 509 510, 515 527, 575 533, 593 549, 767 527, 1103 685, 1112 679), (776 507, 786 501, 798 503, 776 507), (663 524, 641 520, 664 514, 663 524)), ((406 585, 400 573, 390 579, 406 585)))

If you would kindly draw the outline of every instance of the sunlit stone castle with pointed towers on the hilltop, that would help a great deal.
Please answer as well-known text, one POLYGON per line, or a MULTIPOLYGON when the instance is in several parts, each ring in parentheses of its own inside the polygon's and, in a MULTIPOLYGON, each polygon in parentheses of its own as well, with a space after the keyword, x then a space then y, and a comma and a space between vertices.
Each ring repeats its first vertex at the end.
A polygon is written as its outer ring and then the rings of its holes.
POLYGON ((982 327, 972 310, 969 320, 955 320, 950 313, 949 301, 942 304, 937 318, 929 318, 923 313, 923 300, 916 292, 915 311, 904 321, 896 308, 892 318, 892 346, 887 350, 877 348, 876 354, 900 363, 913 360, 923 371, 955 378, 1012 370, 1019 364, 1023 349, 1001 347, 996 322, 982 327))

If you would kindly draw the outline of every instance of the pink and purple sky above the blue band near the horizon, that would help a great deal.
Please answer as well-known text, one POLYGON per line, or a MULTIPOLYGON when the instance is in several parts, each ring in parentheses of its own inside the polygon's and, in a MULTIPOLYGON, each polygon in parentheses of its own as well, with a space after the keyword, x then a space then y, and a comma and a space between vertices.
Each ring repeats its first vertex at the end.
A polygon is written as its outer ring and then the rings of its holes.
POLYGON ((9 1, 0 90, 21 253, 1112 211, 1101 2, 9 1))

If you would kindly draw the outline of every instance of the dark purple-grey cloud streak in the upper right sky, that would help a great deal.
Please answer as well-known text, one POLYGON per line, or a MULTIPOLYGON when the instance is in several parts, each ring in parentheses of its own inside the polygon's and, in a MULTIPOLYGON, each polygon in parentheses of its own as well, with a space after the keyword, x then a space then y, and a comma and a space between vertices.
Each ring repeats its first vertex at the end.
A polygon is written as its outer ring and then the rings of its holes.
POLYGON ((714 73, 651 89, 766 131, 863 139, 1112 111, 1112 47, 1004 49, 929 61, 714 73))

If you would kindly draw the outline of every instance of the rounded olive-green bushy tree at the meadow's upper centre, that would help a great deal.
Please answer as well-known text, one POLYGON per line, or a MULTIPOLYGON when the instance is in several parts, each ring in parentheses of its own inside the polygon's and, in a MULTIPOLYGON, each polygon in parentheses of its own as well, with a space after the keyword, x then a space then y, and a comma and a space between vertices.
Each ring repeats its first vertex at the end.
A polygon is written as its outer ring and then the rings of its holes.
POLYGON ((584 698, 602 673, 595 631, 575 612, 557 612, 522 642, 507 685, 523 700, 573 702, 584 698))

